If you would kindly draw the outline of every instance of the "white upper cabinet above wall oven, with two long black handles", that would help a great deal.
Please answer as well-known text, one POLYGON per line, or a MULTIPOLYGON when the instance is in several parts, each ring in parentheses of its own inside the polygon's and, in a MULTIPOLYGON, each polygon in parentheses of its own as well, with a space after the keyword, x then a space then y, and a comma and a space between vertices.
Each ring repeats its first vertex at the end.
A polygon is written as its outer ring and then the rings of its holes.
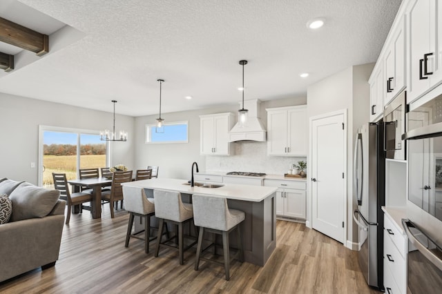
POLYGON ((407 103, 442 81, 442 15, 437 0, 407 5, 407 103))

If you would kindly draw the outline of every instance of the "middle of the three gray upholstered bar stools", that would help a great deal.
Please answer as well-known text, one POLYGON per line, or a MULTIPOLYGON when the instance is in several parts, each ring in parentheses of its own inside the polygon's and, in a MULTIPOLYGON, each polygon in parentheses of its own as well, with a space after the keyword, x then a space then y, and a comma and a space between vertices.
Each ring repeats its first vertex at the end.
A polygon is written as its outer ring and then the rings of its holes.
MULTIPOLYGON (((153 198, 155 199, 155 217, 160 220, 158 225, 157 246, 155 248, 155 257, 158 257, 160 246, 178 249, 180 253, 180 264, 184 264, 183 253, 191 248, 197 242, 193 242, 184 248, 183 224, 191 222, 193 219, 193 208, 190 203, 183 203, 181 193, 170 190, 153 190, 153 198), (174 236, 161 242, 163 234, 164 222, 175 224, 178 232, 174 236), (178 239, 178 246, 175 244, 167 244, 172 239, 178 239)), ((196 230, 195 230, 196 231, 196 230)))

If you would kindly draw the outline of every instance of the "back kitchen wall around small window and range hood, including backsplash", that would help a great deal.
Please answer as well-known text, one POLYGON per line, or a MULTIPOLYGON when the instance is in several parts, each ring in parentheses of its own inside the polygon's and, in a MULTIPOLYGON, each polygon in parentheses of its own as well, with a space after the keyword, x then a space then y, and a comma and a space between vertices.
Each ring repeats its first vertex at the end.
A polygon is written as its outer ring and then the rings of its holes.
MULTIPOLYGON (((267 112, 265 108, 294 106, 306 103, 305 97, 291 99, 277 99, 262 101, 260 112, 262 123, 267 126, 267 112)), ((198 162, 200 171, 250 171, 262 173, 287 173, 289 164, 301 159, 294 157, 267 157, 267 144, 260 142, 233 143, 232 156, 201 156, 200 155, 200 117, 221 112, 233 112, 237 115, 239 104, 227 105, 218 108, 165 113, 162 115, 166 122, 189 121, 189 143, 182 144, 146 144, 144 136, 135 139, 135 168, 145 166, 160 166, 160 177, 175 177, 189 179, 191 164, 198 162)), ((136 117, 135 132, 144 133, 146 124, 155 122, 155 115, 136 117)), ((303 158, 305 160, 305 158, 303 158)))

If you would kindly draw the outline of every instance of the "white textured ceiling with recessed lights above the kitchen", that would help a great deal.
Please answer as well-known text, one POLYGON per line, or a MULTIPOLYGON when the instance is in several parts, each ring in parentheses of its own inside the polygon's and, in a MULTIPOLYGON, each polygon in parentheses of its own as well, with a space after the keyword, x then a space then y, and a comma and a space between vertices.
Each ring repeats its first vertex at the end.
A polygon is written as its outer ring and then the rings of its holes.
MULTIPOLYGON (((3 1, 3 0, 2 0, 3 1)), ((8 0, 10 1, 10 0, 8 0)), ((84 33, 0 76, 0 92, 140 116, 305 96, 376 61, 400 0, 20 0, 84 33), (307 21, 325 17, 312 31, 307 21), (301 78, 301 72, 309 77, 301 78), (193 99, 184 99, 185 96, 193 99)), ((8 19, 4 10, 0 17, 8 19)), ((25 23, 14 19, 17 23, 25 23)), ((24 24, 23 24, 24 25, 24 24)))

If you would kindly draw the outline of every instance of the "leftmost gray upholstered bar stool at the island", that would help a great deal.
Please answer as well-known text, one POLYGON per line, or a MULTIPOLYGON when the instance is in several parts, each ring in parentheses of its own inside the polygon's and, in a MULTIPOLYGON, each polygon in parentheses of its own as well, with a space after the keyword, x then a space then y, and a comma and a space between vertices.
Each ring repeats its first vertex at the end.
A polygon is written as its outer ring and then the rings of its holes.
MULTIPOLYGON (((131 213, 129 215, 129 224, 127 227, 126 244, 129 246, 131 237, 144 240, 144 251, 149 253, 149 243, 157 237, 151 237, 151 217, 155 215, 155 204, 153 198, 147 198, 144 188, 123 186, 124 208, 131 213), (144 231, 132 234, 133 219, 135 215, 144 218, 144 231), (137 236, 144 232, 144 239, 137 236)), ((156 229, 156 228, 155 228, 156 229)))

